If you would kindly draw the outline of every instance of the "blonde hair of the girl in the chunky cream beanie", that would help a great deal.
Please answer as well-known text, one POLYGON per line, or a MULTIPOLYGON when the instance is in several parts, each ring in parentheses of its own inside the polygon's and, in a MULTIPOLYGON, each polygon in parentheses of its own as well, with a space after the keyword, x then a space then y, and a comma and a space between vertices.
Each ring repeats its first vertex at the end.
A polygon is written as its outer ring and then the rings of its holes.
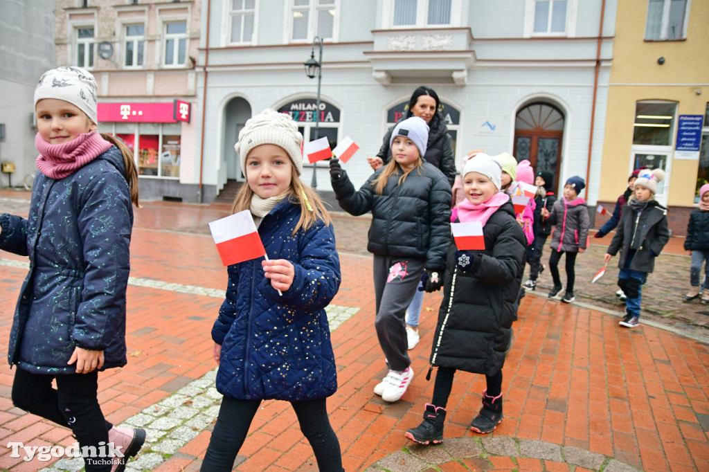
MULTIPOLYGON (((290 162, 291 167, 295 170, 293 162, 290 162)), ((231 213, 238 213, 243 210, 251 209, 251 198, 254 196, 254 191, 248 182, 241 186, 234 203, 231 207, 231 213)), ((292 235, 296 235, 298 230, 307 231, 317 220, 322 220, 325 225, 333 223, 330 218, 330 213, 325 208, 325 204, 316 191, 303 184, 298 179, 297 172, 293 172, 291 176, 291 186, 289 187, 288 195, 286 196, 291 202, 297 203, 301 207, 301 217, 298 218, 298 223, 293 230, 292 235)))

